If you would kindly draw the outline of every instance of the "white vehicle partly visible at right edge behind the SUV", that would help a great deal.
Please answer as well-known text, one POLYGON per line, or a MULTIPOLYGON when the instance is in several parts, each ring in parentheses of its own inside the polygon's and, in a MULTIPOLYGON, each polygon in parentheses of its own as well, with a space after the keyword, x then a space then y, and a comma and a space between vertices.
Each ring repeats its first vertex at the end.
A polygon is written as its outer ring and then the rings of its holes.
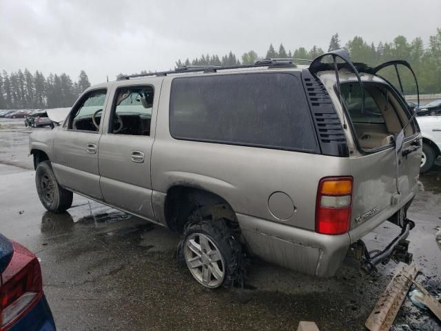
POLYGON ((429 171, 441 155, 441 116, 417 117, 422 134, 421 173, 429 171))

